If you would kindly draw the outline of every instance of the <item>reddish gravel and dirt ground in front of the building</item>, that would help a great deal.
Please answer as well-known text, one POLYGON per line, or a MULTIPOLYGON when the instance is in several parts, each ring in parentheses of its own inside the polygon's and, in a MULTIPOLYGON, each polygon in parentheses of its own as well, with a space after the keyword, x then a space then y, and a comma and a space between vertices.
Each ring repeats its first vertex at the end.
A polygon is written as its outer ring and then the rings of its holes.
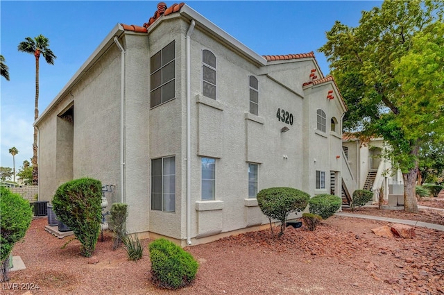
MULTIPOLYGON (((430 199, 421 204, 444 208, 444 196, 430 199)), ((380 212, 357 213, 370 210, 380 212)), ((380 214, 442 223, 444 211, 380 214)), ((77 240, 62 248, 71 237, 54 237, 46 224, 33 220, 15 245, 26 269, 11 272, 1 294, 444 294, 444 232, 427 228, 415 228, 413 239, 383 238, 370 229, 386 222, 334 216, 314 232, 289 227, 273 240, 268 229, 189 246, 200 264, 197 278, 172 291, 151 282, 148 248, 142 260, 128 261, 123 248, 112 251, 105 232, 94 257, 84 258, 77 240)))

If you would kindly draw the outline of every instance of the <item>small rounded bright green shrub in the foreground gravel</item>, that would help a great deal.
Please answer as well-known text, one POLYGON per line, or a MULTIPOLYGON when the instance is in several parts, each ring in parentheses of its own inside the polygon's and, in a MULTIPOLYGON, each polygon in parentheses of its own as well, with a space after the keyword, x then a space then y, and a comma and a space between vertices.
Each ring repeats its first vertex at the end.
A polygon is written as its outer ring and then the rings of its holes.
POLYGON ((193 256, 167 239, 156 239, 149 246, 151 275, 159 287, 178 289, 196 278, 199 264, 193 256))

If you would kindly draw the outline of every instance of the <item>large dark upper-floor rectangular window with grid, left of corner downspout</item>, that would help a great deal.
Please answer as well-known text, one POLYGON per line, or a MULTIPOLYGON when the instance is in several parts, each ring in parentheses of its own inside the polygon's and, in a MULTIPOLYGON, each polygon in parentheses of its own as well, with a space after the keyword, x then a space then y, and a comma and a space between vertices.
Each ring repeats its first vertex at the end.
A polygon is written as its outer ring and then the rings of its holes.
POLYGON ((171 42, 151 57, 151 108, 175 97, 175 42, 171 42))

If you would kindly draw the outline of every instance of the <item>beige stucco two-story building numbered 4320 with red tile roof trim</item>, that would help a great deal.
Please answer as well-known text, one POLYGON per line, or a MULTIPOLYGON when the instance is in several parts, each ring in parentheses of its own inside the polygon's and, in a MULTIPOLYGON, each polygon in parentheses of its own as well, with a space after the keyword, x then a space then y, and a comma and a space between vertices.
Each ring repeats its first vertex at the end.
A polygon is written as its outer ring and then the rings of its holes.
MULTIPOLYGON (((39 198, 115 185, 130 233, 199 244, 268 222, 255 195, 341 195, 346 106, 314 53, 259 56, 183 3, 117 24, 35 121, 39 198)), ((295 214, 292 217, 296 217, 295 214)))

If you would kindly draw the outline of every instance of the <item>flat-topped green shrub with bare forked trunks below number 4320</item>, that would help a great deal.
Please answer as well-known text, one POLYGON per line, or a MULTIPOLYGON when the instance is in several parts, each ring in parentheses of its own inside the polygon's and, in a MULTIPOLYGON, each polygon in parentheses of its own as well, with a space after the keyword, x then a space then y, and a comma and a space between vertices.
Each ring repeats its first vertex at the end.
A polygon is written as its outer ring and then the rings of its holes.
POLYGON ((257 204, 270 221, 273 239, 274 233, 271 219, 278 219, 280 221, 280 233, 278 235, 280 237, 284 234, 289 214, 305 210, 309 199, 309 194, 292 187, 270 187, 262 189, 257 193, 257 204))

